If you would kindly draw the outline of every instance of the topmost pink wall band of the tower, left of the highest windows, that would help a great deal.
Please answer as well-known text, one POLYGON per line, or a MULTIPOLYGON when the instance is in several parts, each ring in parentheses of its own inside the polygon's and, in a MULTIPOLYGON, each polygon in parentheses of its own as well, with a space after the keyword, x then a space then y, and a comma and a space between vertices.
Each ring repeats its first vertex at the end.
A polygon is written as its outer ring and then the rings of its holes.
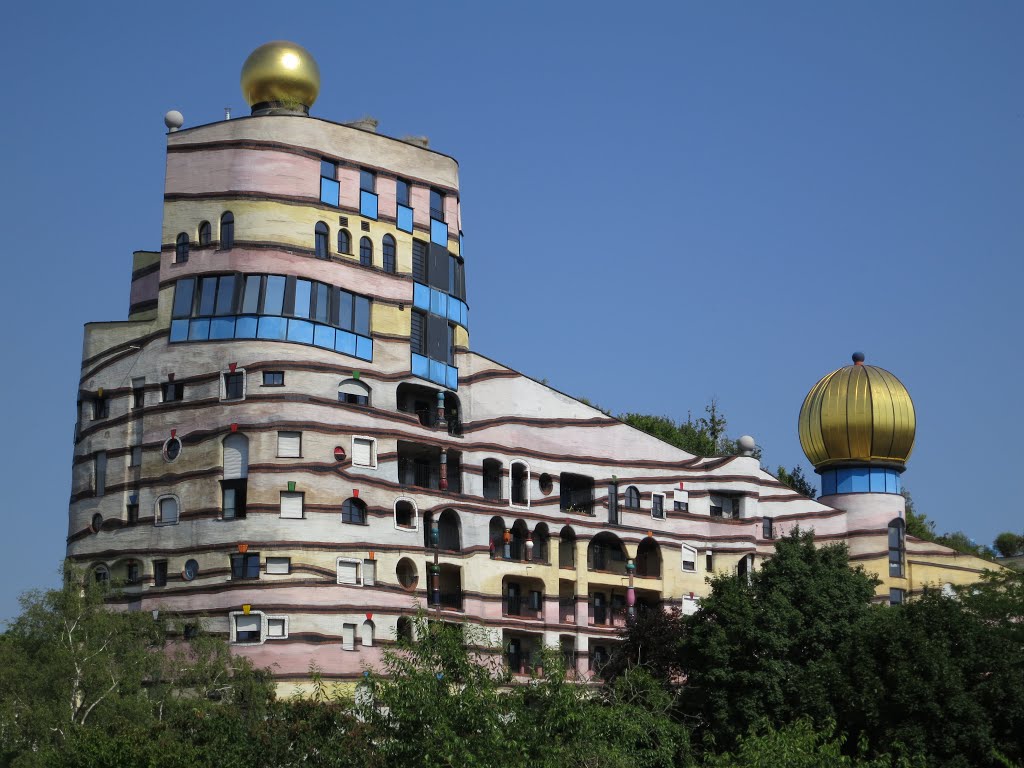
POLYGON ((261 150, 170 153, 165 188, 168 195, 249 191, 318 200, 319 163, 261 150))

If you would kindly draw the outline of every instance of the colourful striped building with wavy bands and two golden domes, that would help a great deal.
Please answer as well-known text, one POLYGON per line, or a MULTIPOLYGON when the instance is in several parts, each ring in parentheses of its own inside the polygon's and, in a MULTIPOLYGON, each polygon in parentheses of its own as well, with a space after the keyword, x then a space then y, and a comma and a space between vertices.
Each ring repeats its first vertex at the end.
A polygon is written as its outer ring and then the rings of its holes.
POLYGON ((455 160, 309 117, 297 45, 242 82, 250 117, 168 114, 161 249, 134 254, 128 319, 85 330, 68 554, 129 608, 224 633, 283 684, 357 678, 417 606, 516 672, 554 645, 586 676, 636 604, 694 610, 796 525, 847 542, 880 600, 984 567, 905 537, 891 374, 860 359, 808 395, 818 501, 753 439, 686 454, 470 351, 455 160))

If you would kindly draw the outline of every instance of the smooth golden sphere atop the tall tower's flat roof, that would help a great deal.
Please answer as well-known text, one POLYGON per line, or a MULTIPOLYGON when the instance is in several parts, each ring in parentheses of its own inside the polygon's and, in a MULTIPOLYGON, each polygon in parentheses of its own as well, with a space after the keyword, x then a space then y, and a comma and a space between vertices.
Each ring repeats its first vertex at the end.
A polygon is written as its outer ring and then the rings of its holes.
POLYGON ((301 45, 287 40, 264 43, 242 66, 242 93, 253 108, 309 112, 319 94, 319 68, 301 45))

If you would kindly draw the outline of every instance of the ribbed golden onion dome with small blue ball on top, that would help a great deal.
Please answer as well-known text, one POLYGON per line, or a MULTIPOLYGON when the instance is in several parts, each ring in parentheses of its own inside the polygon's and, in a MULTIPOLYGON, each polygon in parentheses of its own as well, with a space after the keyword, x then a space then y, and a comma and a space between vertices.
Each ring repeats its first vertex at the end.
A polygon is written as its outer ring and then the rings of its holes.
POLYGON ((800 444, 815 469, 877 464, 903 469, 916 419, 906 387, 885 369, 853 365, 811 387, 800 409, 800 444))

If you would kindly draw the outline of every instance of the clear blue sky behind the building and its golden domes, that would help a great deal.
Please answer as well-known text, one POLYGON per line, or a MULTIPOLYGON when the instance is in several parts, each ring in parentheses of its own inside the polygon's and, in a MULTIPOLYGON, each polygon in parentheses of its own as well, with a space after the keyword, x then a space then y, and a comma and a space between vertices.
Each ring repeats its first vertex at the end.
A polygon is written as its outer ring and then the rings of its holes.
POLYGON ((461 163, 472 346, 614 413, 718 397, 771 466, 862 349, 918 409, 940 530, 1024 528, 1024 5, 18 4, 5 13, 0 618, 63 553, 86 322, 160 242, 163 114, 245 114, 257 45, 317 116, 461 163))

